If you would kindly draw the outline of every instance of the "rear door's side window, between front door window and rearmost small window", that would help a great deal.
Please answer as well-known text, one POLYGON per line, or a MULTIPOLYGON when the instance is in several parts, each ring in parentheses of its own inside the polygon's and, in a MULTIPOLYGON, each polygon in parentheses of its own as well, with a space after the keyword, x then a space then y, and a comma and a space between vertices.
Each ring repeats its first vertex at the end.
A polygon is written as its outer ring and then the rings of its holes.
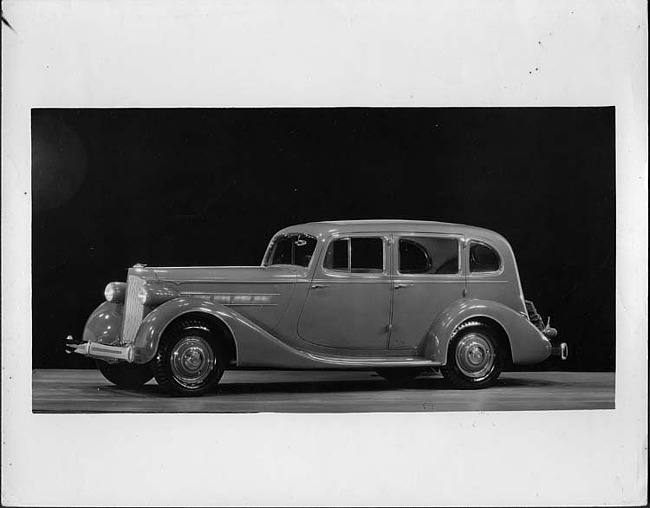
POLYGON ((399 272, 404 274, 457 274, 458 240, 413 236, 399 240, 399 272))

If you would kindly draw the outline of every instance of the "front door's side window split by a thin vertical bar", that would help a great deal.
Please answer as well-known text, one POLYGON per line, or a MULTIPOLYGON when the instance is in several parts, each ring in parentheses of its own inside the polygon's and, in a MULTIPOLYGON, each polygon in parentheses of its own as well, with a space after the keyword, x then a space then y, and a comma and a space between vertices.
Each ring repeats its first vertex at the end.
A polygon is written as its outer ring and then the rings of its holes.
POLYGON ((348 273, 384 271, 384 242, 381 238, 340 238, 330 243, 323 267, 348 273))

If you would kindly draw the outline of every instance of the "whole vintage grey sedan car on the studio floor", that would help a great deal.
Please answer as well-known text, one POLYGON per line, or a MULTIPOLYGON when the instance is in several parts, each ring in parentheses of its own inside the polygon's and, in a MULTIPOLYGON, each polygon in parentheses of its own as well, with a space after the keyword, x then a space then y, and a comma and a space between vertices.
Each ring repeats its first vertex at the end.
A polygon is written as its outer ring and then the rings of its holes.
POLYGON ((567 346, 524 300, 499 234, 407 220, 314 222, 273 236, 260 266, 135 265, 106 286, 70 350, 122 387, 155 376, 176 395, 225 369, 437 369, 457 388, 492 384, 567 346))

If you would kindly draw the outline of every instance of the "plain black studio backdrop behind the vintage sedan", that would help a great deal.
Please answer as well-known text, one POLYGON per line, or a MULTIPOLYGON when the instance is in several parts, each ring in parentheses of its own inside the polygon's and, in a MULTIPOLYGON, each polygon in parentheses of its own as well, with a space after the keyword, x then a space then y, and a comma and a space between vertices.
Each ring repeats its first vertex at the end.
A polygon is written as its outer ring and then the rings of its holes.
POLYGON ((127 267, 256 265, 326 219, 494 229, 569 343, 535 368, 613 370, 614 108, 32 111, 33 366, 66 355, 127 267))

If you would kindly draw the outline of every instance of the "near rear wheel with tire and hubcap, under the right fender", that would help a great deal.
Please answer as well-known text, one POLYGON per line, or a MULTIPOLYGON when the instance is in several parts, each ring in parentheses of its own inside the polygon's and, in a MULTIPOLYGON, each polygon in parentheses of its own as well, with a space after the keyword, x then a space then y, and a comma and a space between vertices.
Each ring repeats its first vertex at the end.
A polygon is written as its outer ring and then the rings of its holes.
POLYGON ((459 326, 452 334, 447 365, 440 370, 456 388, 487 388, 497 380, 506 360, 497 334, 478 322, 459 326))

